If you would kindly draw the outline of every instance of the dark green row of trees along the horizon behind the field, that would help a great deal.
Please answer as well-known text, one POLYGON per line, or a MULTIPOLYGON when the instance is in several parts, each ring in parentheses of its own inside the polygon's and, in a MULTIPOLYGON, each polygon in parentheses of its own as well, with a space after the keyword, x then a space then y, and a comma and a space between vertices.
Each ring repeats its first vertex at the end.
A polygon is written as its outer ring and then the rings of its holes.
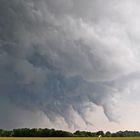
POLYGON ((19 128, 13 130, 0 129, 0 137, 140 137, 138 131, 118 131, 111 133, 109 131, 103 132, 88 132, 77 130, 74 133, 55 130, 55 129, 42 129, 42 128, 19 128))

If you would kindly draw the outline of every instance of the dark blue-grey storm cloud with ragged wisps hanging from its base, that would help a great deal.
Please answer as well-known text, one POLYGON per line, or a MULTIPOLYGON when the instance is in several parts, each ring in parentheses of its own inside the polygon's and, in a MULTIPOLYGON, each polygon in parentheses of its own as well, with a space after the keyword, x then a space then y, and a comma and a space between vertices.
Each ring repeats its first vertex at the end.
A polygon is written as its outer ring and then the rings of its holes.
POLYGON ((115 23, 119 2, 102 3, 0 0, 0 94, 51 121, 63 117, 69 126, 76 126, 77 114, 90 123, 84 110, 91 103, 117 121, 120 79, 135 78, 129 74, 139 63, 124 26, 115 23))

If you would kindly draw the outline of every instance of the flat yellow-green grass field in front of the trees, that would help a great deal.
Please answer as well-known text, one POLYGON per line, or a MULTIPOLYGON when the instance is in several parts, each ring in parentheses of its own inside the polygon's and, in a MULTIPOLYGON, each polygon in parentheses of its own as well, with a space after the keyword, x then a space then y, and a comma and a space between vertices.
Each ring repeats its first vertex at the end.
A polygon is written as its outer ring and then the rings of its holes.
POLYGON ((1 137, 0 140, 140 140, 139 138, 4 138, 1 137))

